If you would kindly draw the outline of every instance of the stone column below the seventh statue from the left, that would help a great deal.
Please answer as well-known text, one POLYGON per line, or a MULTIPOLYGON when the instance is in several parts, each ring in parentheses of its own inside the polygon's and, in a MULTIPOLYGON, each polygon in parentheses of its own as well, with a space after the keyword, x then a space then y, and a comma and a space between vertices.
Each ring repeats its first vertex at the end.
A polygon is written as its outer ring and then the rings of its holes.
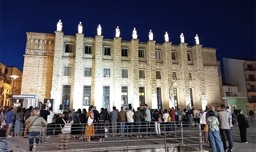
MULTIPOLYGON (((174 107, 174 94, 173 89, 170 86, 173 82, 172 80, 172 42, 164 42, 162 44, 162 58, 163 58, 163 68, 162 68, 162 79, 164 81, 165 86, 162 87, 162 98, 163 98, 163 108, 162 109, 168 109, 169 107, 174 107), (169 90, 170 90, 170 96, 172 100, 170 100, 169 96, 169 90)), ((173 87, 173 86, 172 86, 173 87)))

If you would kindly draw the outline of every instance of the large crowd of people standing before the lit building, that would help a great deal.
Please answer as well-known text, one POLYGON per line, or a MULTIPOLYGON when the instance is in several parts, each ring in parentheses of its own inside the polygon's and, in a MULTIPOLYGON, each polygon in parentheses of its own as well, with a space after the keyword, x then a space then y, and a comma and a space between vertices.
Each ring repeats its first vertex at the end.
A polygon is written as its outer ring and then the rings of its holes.
POLYGON ((149 137, 151 134, 161 136, 161 129, 165 129, 166 135, 170 136, 172 131, 181 126, 190 127, 194 122, 195 127, 202 130, 202 142, 210 142, 212 151, 216 152, 217 147, 220 152, 232 152, 233 139, 232 129, 235 122, 238 122, 242 143, 246 140, 246 128, 249 124, 242 110, 236 110, 231 114, 229 107, 225 105, 215 107, 206 106, 205 110, 197 108, 185 108, 183 110, 174 107, 164 110, 150 109, 145 104, 134 110, 132 107, 120 111, 114 106, 101 108, 90 106, 86 109, 72 109, 64 111, 62 114, 54 114, 51 107, 28 109, 18 107, 9 108, 7 111, 1 109, 1 126, 6 129, 6 136, 28 136, 30 151, 35 151, 39 142, 47 143, 47 139, 55 136, 59 138, 59 149, 68 148, 68 138, 74 137, 86 142, 98 139, 104 141, 107 136, 124 137, 142 135, 149 137), (200 124, 200 125, 198 125, 200 124), (25 126, 25 127, 24 127, 25 126), (222 140, 220 139, 220 135, 222 140), (41 136, 41 137, 40 137, 41 136), (35 143, 34 143, 35 139, 35 143), (41 139, 41 141, 40 141, 41 139), (226 148, 226 140, 229 143, 229 150, 226 148), (223 142, 223 144, 222 144, 223 142))

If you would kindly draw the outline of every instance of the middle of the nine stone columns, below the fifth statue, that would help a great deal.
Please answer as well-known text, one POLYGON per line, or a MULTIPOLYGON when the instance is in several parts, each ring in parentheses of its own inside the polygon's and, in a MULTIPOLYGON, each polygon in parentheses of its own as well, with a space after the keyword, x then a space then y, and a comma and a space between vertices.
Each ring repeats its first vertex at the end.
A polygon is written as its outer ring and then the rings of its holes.
MULTIPOLYGON (((132 80, 132 86, 130 93, 133 96, 133 104, 132 106, 134 109, 140 106, 140 94, 139 94, 139 56, 138 56, 138 49, 139 49, 139 39, 132 39, 130 41, 130 55, 131 55, 131 66, 130 66, 130 76, 132 80)), ((144 106, 144 105, 143 105, 144 106)))

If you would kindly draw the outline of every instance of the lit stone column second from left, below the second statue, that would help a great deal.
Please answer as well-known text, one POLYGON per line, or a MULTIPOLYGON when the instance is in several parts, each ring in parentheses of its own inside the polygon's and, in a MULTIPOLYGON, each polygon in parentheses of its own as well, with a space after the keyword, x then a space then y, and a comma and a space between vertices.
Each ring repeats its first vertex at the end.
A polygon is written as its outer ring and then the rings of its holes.
MULTIPOLYGON (((83 94, 83 83, 81 80, 83 78, 83 40, 84 34, 76 33, 76 62, 75 62, 75 76, 74 76, 74 99, 73 108, 79 109, 82 107, 82 94, 83 94)), ((70 107, 71 108, 71 107, 70 107)))

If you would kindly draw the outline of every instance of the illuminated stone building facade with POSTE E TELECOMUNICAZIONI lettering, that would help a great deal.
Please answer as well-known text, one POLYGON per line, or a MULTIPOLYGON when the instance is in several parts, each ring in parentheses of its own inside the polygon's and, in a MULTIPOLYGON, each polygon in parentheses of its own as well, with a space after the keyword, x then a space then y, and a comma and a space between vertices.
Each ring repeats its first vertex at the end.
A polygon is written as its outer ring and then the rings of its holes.
POLYGON ((221 102, 216 49, 202 45, 27 32, 24 57, 21 94, 54 99, 54 111, 221 102))

